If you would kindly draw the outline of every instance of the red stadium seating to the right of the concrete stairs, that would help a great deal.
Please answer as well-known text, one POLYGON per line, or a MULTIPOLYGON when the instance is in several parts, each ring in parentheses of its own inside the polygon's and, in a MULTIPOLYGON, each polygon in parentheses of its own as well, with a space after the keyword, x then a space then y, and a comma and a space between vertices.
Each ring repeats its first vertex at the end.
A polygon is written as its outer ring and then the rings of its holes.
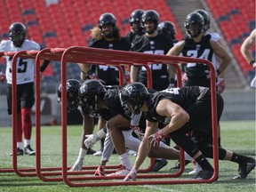
MULTIPOLYGON (((255 28, 254 0, 207 0, 210 10, 217 20, 225 40, 231 48, 235 59, 246 76, 252 70, 240 52, 244 38, 255 28)), ((252 49, 255 57, 255 46, 252 49)))

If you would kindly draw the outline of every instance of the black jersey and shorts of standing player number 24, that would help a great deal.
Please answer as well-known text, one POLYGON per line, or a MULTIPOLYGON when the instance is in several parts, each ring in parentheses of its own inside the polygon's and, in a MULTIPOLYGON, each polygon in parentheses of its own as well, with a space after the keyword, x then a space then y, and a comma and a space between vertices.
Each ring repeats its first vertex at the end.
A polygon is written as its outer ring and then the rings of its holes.
MULTIPOLYGON (((213 50, 210 44, 211 36, 202 36, 202 40, 198 43, 191 38, 185 39, 185 45, 182 54, 185 57, 200 58, 212 61, 213 50)), ((210 69, 206 64, 188 63, 185 72, 188 76, 186 86, 199 85, 210 87, 211 81, 206 76, 209 75, 210 69)))

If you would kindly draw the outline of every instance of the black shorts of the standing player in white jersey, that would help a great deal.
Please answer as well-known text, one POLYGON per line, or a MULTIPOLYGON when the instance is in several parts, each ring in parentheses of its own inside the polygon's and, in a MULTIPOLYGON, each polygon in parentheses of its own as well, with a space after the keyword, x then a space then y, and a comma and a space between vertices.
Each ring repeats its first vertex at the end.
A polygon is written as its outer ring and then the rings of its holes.
MULTIPOLYGON (((17 112, 21 108, 32 108, 35 103, 34 82, 28 84, 17 84, 17 112)), ((12 84, 7 86, 8 114, 12 114, 12 84)))

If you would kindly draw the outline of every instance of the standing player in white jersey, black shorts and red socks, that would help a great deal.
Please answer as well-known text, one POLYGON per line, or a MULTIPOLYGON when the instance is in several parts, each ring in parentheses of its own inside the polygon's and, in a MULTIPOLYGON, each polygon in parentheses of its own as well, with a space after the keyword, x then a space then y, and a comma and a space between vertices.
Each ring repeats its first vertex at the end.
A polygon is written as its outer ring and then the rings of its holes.
MULTIPOLYGON (((0 44, 0 52, 20 52, 23 50, 41 50, 39 44, 26 39, 27 29, 20 22, 14 22, 9 28, 10 40, 3 40, 0 44)), ((7 79, 7 104, 8 114, 12 115, 12 57, 4 56, 6 60, 5 75, 7 79)), ((50 63, 44 60, 40 71, 50 63)), ((2 72, 2 78, 4 74, 2 72)), ((32 106, 35 102, 34 95, 35 60, 19 58, 17 60, 17 156, 35 156, 36 152, 31 148, 32 133, 32 106), (22 132, 24 133, 24 150, 22 144, 22 132)), ((16 111, 14 112, 16 113, 16 111)), ((12 156, 12 154, 11 154, 12 156)))

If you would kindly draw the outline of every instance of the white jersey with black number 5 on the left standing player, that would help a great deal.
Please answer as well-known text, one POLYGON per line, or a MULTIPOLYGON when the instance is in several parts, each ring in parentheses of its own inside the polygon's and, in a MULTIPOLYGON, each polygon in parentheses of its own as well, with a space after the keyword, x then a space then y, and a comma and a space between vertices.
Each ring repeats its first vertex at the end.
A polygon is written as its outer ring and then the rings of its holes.
MULTIPOLYGON (((40 45, 34 41, 26 39, 21 47, 16 47, 11 40, 3 40, 0 44, 0 52, 20 52, 24 50, 40 51, 40 45)), ((4 56, 6 60, 5 75, 7 84, 12 84, 12 57, 4 56)), ((17 60, 17 84, 27 84, 34 82, 35 60, 18 58, 17 60)))

